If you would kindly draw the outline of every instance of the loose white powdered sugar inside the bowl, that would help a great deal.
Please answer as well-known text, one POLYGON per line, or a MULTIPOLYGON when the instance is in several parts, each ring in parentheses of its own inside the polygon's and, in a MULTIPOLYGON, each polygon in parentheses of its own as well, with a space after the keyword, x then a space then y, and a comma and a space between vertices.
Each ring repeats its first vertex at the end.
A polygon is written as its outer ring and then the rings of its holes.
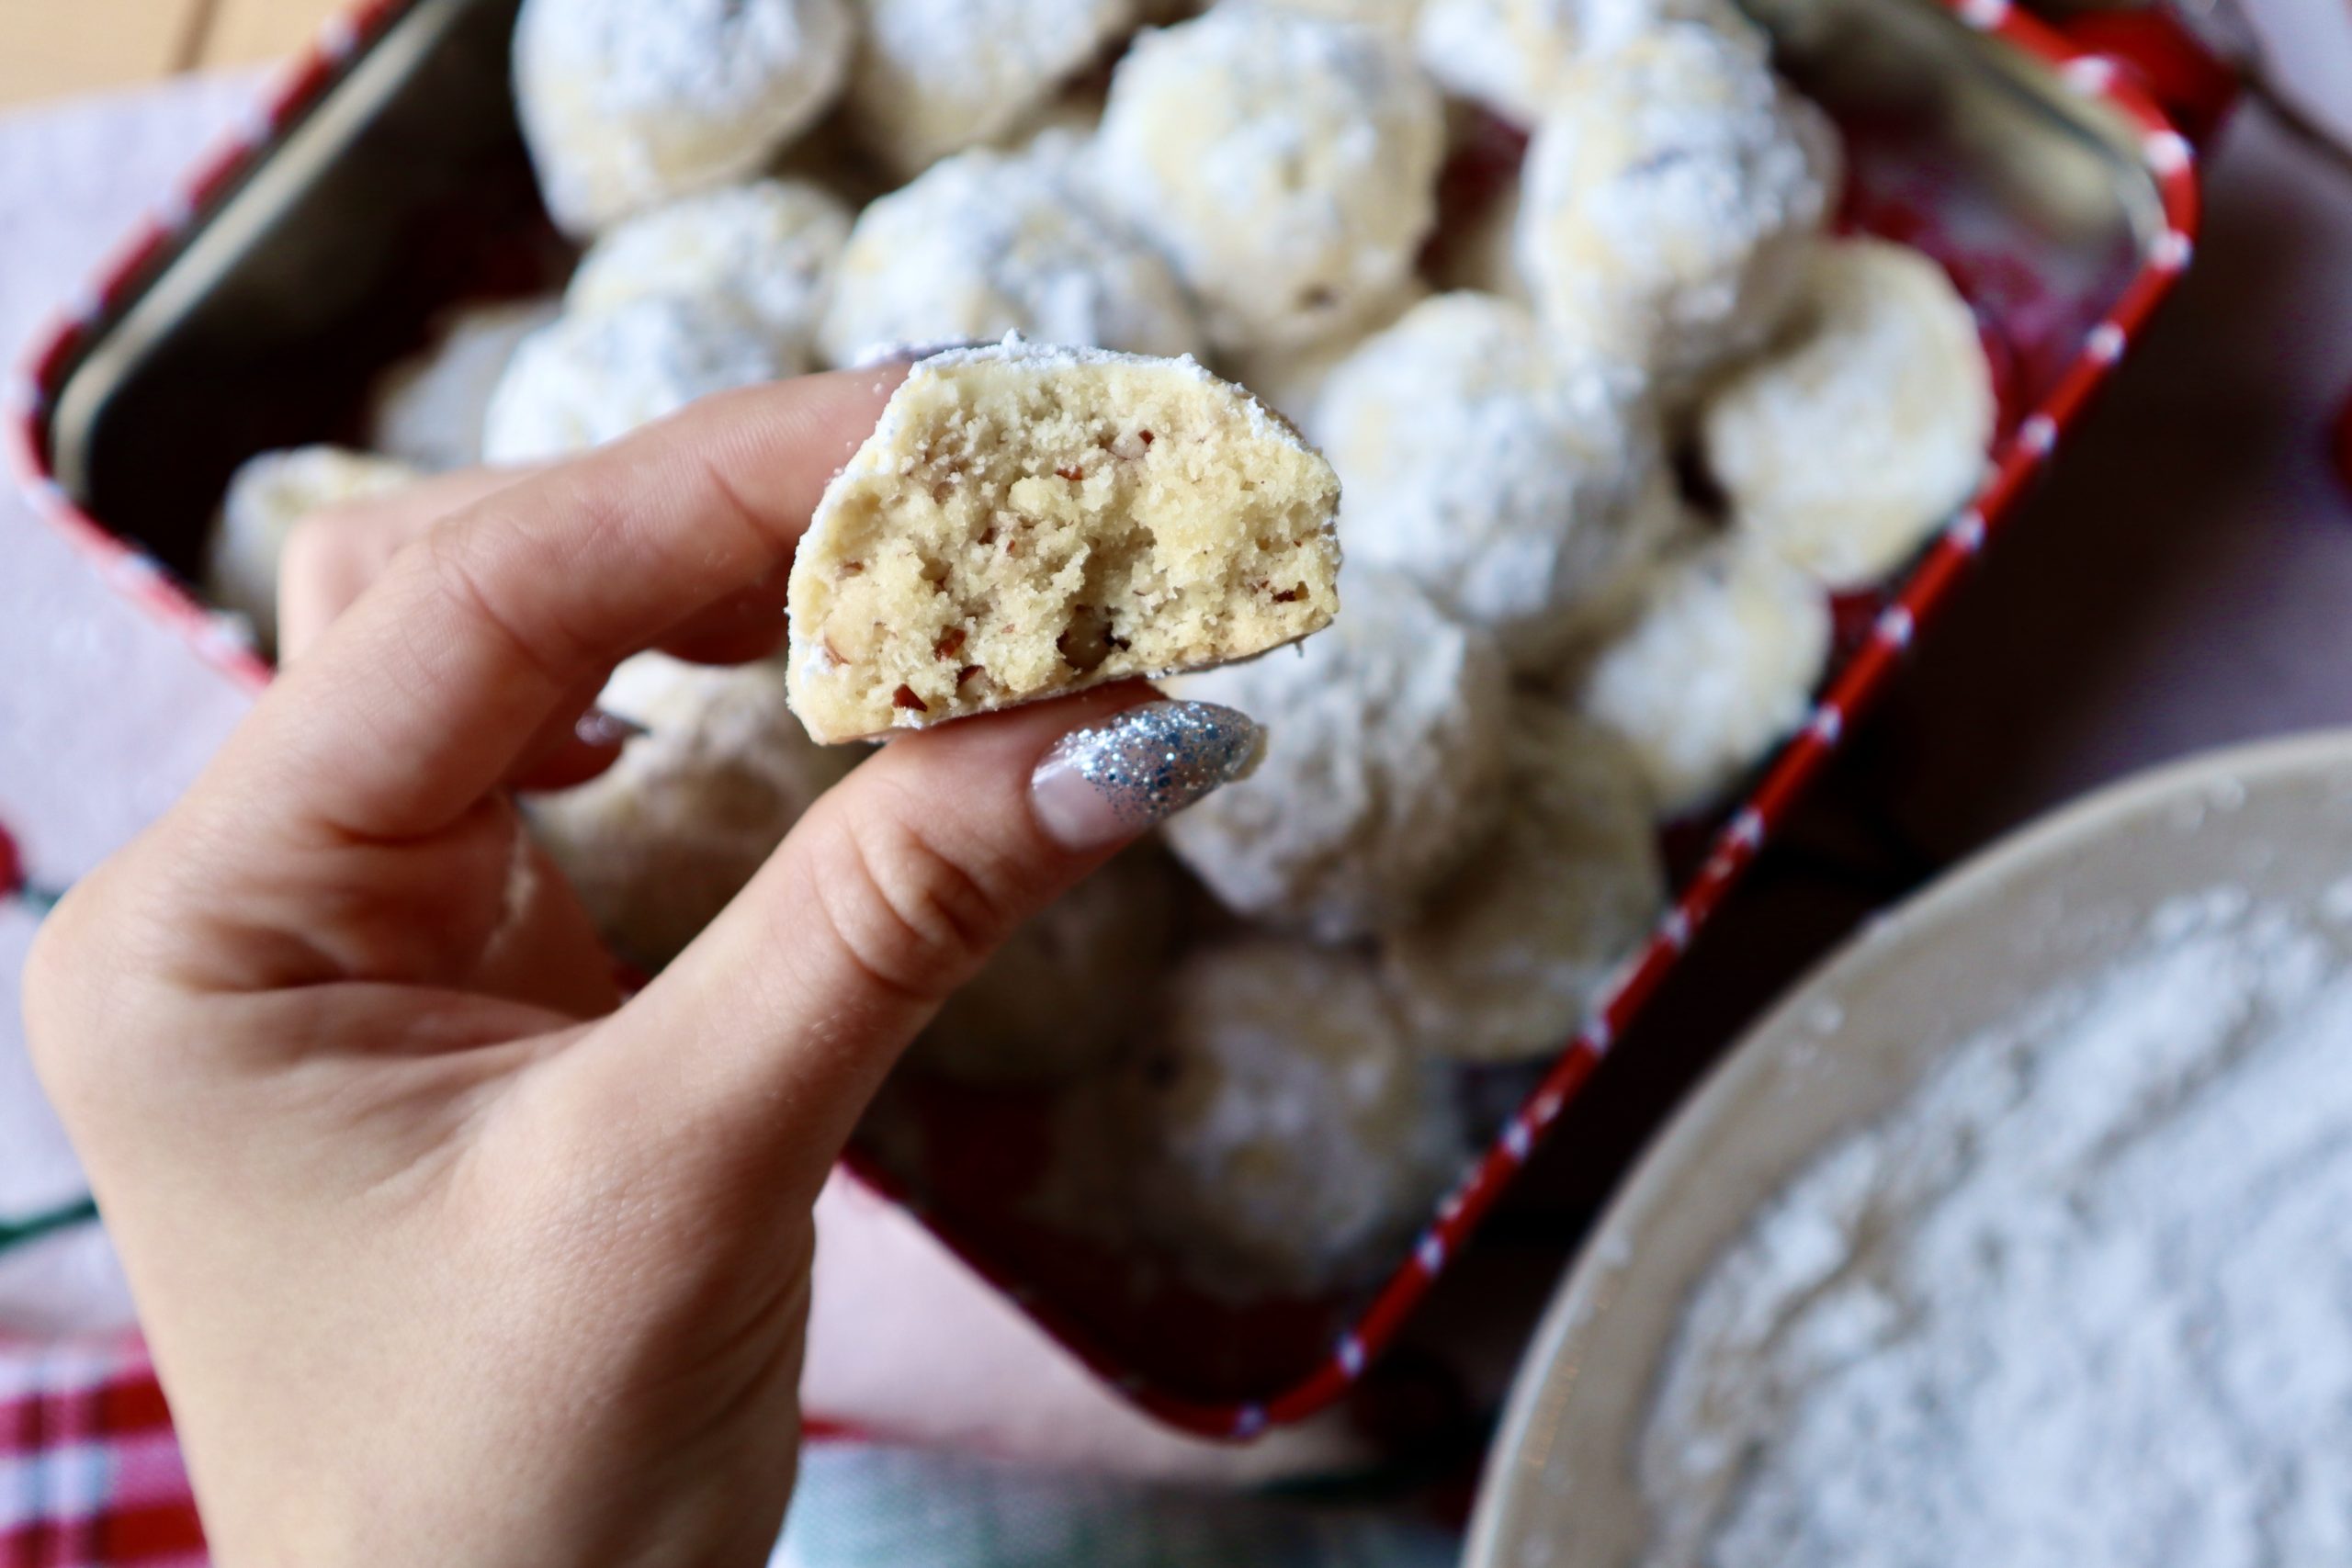
POLYGON ((1691 1300, 1644 1561, 2345 1561, 2345 936, 2176 898, 1816 1159, 1691 1300))

